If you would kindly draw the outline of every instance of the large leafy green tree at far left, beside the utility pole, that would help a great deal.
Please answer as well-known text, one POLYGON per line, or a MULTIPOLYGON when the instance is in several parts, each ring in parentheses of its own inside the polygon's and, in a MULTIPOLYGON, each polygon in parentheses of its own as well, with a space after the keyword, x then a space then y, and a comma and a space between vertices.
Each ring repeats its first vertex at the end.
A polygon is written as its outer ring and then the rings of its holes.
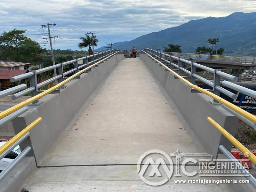
POLYGON ((0 58, 20 62, 30 62, 30 59, 40 49, 40 45, 23 35, 25 30, 12 29, 0 36, 0 58))

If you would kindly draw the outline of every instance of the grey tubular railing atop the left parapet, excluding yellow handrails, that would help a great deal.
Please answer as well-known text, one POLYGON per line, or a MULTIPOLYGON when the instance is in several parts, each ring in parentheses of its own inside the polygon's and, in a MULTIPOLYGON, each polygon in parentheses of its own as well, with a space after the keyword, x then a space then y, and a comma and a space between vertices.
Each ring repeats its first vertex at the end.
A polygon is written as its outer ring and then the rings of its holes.
MULTIPOLYGON (((70 74, 75 74, 78 73, 82 68, 88 67, 92 64, 94 64, 97 61, 103 60, 104 58, 108 57, 110 54, 113 54, 115 52, 117 52, 117 49, 112 49, 112 50, 108 50, 105 52, 100 52, 100 53, 95 53, 94 55, 90 55, 90 56, 85 56, 79 59, 74 59, 74 60, 70 60, 70 61, 66 61, 63 63, 58 63, 56 65, 52 65, 50 67, 46 67, 46 68, 42 68, 42 69, 37 69, 37 70, 31 70, 28 73, 22 74, 22 75, 18 75, 18 76, 14 76, 10 79, 10 81, 13 82, 17 82, 26 78, 29 78, 29 83, 30 86, 29 88, 27 87, 26 84, 21 84, 15 87, 12 87, 10 89, 4 90, 0 92, 0 98, 4 97, 6 95, 12 95, 12 100, 16 100, 18 98, 20 98, 21 96, 27 95, 28 93, 31 93, 31 97, 36 96, 37 94, 39 94, 41 87, 50 84, 52 82, 58 81, 59 83, 64 81, 65 78, 67 78, 66 76, 70 75, 70 74), (78 65, 78 61, 83 61, 82 65, 78 65), (91 61, 90 61, 91 60, 91 61), (74 68, 72 68, 71 70, 68 70, 66 72, 64 72, 65 66, 68 64, 73 64, 74 68), (45 73, 45 72, 49 72, 53 69, 58 69, 59 74, 57 76, 54 76, 50 79, 47 79, 41 83, 37 82, 37 76, 39 74, 45 73), (22 91, 21 91, 22 90, 22 91), (20 91, 20 92, 19 92, 20 91)), ((99 63, 97 64, 99 65, 99 63)), ((80 76, 79 76, 80 78, 80 76)), ((63 87, 61 88, 65 88, 66 85, 63 85, 63 87)), ((60 93, 60 88, 59 91, 56 90, 54 93, 60 93)), ((35 100, 32 102, 32 104, 30 104, 31 106, 38 106, 42 103, 42 101, 39 100, 35 100)))

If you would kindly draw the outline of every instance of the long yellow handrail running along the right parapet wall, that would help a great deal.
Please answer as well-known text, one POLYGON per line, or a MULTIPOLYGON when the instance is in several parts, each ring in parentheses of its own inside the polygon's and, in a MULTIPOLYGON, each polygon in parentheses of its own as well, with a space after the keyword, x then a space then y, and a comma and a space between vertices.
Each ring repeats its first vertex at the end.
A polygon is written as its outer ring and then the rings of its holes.
MULTIPOLYGON (((144 53, 146 53, 145 51, 143 51, 144 53)), ((194 85, 192 83, 190 83, 188 80, 184 79, 182 76, 178 75, 176 72, 172 71, 172 69, 168 68, 167 66, 165 66, 163 63, 161 63, 160 61, 156 60, 154 57, 152 57, 151 55, 149 55, 148 53, 146 53, 148 56, 150 56, 152 59, 154 59, 155 61, 157 61, 160 65, 162 65, 165 69, 167 69, 168 71, 170 71, 172 73, 172 75, 178 77, 183 83, 187 84, 189 87, 196 89, 199 92, 202 92, 210 97, 212 97, 213 99, 219 101, 220 103, 222 103, 223 105, 226 105, 228 108, 236 111, 237 113, 239 113, 240 115, 244 116, 245 118, 249 119, 250 121, 252 121, 253 123, 256 123, 256 116, 252 115, 251 113, 245 111, 244 109, 241 109, 239 107, 237 107, 236 105, 228 102, 227 100, 221 98, 218 95, 215 95, 212 92, 209 92, 201 87, 198 87, 197 85, 194 85)), ((1 113, 0 113, 1 115, 1 113)))

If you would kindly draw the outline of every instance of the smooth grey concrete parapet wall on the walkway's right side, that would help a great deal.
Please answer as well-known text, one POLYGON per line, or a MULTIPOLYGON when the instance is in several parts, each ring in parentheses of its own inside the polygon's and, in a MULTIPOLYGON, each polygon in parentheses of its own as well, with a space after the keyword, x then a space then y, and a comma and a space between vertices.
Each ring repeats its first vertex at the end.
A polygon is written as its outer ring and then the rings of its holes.
MULTIPOLYGON (((236 134, 238 118, 220 105, 212 105, 209 102, 212 98, 209 96, 201 93, 190 93, 190 88, 186 84, 174 79, 169 71, 165 71, 164 67, 159 66, 159 63, 156 63, 145 53, 140 54, 140 59, 144 61, 172 98, 207 153, 216 157, 219 145, 224 145, 228 150, 231 150, 232 144, 207 121, 207 117, 212 117, 233 136, 236 134)), ((187 152, 196 153, 196 151, 187 152)))

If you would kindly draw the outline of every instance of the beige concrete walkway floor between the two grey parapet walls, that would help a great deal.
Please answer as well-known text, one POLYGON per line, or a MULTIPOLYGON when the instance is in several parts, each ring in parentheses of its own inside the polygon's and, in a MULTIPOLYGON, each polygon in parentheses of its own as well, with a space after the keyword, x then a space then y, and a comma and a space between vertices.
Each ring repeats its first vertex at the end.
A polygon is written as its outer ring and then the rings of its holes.
POLYGON ((144 63, 139 58, 124 59, 23 188, 30 192, 232 191, 225 184, 175 184, 173 177, 160 187, 143 183, 136 164, 151 149, 167 154, 177 149, 205 152, 188 134, 144 63))

